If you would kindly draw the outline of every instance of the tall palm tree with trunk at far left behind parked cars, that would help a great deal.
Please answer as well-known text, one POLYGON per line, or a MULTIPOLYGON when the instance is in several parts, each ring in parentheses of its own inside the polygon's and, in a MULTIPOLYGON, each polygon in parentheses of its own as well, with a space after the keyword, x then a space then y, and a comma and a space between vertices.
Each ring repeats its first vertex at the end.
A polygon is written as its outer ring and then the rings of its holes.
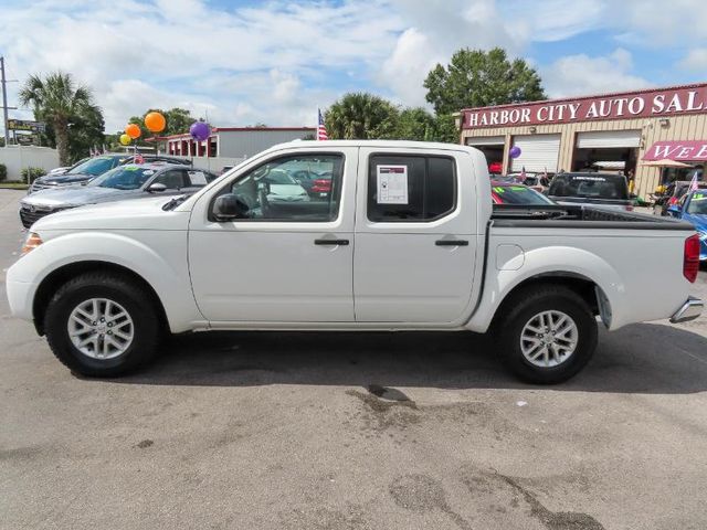
POLYGON ((34 107, 38 119, 51 121, 56 135, 61 166, 68 166, 68 126, 74 116, 93 106, 93 95, 85 86, 76 86, 71 74, 55 72, 44 80, 31 75, 20 91, 20 103, 34 107))

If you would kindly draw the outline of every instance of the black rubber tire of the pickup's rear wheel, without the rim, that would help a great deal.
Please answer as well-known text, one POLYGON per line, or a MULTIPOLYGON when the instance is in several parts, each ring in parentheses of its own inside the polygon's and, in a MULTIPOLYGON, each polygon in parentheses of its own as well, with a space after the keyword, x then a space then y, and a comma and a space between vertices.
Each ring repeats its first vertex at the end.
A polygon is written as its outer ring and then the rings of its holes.
POLYGON ((504 364, 519 379, 536 384, 556 384, 576 375, 597 349, 597 319, 587 303, 563 286, 539 285, 511 295, 504 303, 493 332, 504 364), (561 311, 577 326, 574 351, 556 367, 532 364, 523 353, 521 332, 530 319, 542 311, 561 311))

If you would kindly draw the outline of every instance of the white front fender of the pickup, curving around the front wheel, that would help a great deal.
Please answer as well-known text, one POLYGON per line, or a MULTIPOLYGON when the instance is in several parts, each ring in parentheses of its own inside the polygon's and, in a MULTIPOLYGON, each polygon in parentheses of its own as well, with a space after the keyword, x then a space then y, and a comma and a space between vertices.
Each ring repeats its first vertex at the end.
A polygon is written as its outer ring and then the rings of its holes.
POLYGON ((140 231, 138 236, 143 241, 127 234, 91 231, 50 239, 8 271, 8 290, 22 292, 25 298, 23 301, 14 297, 13 314, 32 318, 36 289, 52 272, 81 262, 106 262, 125 267, 150 284, 162 303, 172 332, 191 329, 192 322, 203 317, 189 279, 187 232, 140 231))

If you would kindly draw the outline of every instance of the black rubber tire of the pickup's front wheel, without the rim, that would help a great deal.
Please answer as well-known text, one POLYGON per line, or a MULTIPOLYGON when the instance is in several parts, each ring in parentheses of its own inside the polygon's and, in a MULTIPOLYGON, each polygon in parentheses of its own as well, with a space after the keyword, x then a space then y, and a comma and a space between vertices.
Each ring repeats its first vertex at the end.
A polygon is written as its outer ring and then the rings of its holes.
POLYGON ((120 375, 151 360, 161 328, 158 309, 150 303, 148 294, 129 278, 108 273, 86 273, 68 280, 54 294, 44 316, 46 339, 54 356, 72 371, 94 378, 120 375), (70 338, 67 324, 72 311, 92 298, 106 298, 119 304, 133 320, 133 340, 118 357, 88 357, 70 338))

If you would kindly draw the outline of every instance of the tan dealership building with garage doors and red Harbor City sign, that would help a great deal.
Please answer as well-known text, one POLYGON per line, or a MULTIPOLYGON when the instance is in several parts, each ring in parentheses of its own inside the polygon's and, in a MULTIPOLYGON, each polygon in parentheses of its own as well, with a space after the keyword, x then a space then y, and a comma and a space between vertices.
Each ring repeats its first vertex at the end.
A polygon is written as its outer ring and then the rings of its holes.
POLYGON ((621 171, 644 197, 668 178, 644 162, 707 163, 707 83, 467 108, 461 121, 462 142, 503 173, 621 171))

